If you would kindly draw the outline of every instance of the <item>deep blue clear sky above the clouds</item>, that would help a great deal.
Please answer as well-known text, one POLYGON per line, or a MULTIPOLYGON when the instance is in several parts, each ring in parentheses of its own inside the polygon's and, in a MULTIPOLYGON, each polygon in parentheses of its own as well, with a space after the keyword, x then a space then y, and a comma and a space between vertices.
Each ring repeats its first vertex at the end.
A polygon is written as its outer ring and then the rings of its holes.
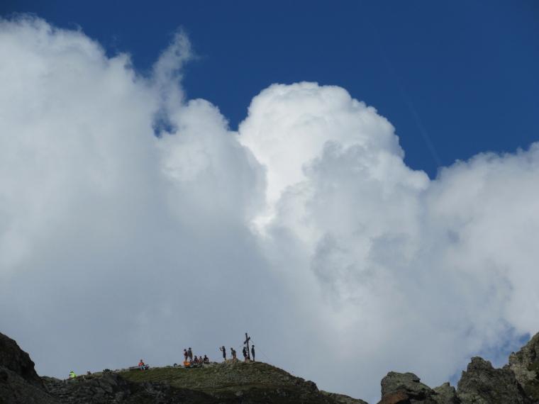
POLYGON ((218 106, 233 130, 270 84, 342 86, 389 119, 406 164, 431 178, 526 148, 539 129, 535 1, 3 1, 0 14, 13 12, 79 26, 140 72, 183 29, 198 55, 187 97, 218 106))

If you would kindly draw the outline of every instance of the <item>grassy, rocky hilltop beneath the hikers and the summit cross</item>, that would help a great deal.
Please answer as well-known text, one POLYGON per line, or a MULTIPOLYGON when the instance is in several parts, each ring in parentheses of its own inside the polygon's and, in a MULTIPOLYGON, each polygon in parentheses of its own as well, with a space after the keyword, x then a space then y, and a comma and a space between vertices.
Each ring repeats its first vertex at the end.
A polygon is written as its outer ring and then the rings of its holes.
POLYGON ((72 381, 42 379, 60 403, 365 403, 319 391, 312 381, 269 364, 237 359, 191 369, 120 369, 72 381))

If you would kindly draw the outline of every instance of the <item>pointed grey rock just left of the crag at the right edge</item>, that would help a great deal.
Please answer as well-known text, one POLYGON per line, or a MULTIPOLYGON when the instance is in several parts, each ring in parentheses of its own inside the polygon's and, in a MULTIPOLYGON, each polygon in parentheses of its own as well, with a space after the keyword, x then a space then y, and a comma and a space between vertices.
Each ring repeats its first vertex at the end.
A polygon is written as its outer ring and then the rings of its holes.
POLYGON ((467 371, 462 371, 457 395, 462 404, 532 403, 511 370, 494 369, 489 361, 479 357, 472 358, 467 371))

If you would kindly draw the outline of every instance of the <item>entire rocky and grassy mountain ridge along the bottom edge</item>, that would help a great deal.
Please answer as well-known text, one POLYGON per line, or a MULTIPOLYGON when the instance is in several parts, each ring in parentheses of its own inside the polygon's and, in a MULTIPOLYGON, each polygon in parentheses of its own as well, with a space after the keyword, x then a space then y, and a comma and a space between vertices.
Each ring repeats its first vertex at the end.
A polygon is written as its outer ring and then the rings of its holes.
MULTIPOLYGON (((457 388, 430 388, 412 373, 390 371, 378 404, 539 403, 539 334, 494 369, 474 357, 457 388)), ((193 368, 165 366, 146 371, 119 369, 60 380, 38 376, 18 344, 0 333, 0 404, 18 403, 326 403, 365 404, 320 391, 312 381, 275 366, 230 359, 193 368)))

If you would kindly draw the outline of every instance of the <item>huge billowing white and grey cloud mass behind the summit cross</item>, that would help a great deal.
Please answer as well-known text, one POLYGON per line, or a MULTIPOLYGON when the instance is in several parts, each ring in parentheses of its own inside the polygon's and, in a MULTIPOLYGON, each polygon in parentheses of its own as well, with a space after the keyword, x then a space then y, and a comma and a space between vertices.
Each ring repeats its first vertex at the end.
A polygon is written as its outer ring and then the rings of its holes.
POLYGON ((185 96, 189 57, 178 33, 142 77, 80 32, 0 21, 0 323, 40 374, 217 359, 248 331, 376 400, 387 371, 435 386, 538 331, 538 144, 430 180, 374 108, 306 82, 234 133, 185 96))

